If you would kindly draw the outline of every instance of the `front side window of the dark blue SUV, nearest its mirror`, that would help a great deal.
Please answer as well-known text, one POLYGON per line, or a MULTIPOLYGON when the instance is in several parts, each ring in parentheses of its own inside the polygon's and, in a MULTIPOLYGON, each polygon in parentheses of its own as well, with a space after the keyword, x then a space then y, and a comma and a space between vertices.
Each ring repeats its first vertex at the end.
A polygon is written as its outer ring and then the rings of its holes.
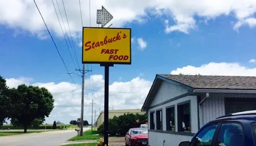
POLYGON ((201 130, 196 138, 193 139, 191 146, 211 146, 211 141, 217 127, 218 124, 213 124, 201 130))

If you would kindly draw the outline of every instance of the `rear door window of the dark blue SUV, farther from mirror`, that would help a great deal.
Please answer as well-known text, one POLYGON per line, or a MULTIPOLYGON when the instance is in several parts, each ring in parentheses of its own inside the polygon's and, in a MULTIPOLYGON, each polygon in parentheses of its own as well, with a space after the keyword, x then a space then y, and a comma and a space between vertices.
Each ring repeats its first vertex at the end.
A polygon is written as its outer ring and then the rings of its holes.
POLYGON ((243 128, 238 123, 223 123, 216 146, 243 146, 243 128))

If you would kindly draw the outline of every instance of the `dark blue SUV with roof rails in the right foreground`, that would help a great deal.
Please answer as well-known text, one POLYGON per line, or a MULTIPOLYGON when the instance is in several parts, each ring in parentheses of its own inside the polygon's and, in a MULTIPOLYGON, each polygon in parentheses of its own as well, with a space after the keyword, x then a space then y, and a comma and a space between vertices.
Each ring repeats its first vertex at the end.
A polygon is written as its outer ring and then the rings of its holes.
POLYGON ((256 146, 256 111, 221 116, 179 146, 256 146))

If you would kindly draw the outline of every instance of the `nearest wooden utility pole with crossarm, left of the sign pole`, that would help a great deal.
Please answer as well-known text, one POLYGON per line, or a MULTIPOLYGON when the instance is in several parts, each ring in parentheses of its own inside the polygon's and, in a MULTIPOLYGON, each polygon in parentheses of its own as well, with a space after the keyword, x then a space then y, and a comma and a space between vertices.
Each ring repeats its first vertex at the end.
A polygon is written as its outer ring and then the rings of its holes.
MULTIPOLYGON (((79 136, 82 136, 83 135, 84 75, 85 75, 85 73, 91 72, 91 70, 85 70, 85 65, 83 64, 82 65, 82 70, 81 69, 76 69, 76 71, 79 71, 80 73, 82 73, 81 122, 80 122, 80 133, 79 133, 79 136)), ((81 76, 81 75, 79 75, 79 76, 81 76)))

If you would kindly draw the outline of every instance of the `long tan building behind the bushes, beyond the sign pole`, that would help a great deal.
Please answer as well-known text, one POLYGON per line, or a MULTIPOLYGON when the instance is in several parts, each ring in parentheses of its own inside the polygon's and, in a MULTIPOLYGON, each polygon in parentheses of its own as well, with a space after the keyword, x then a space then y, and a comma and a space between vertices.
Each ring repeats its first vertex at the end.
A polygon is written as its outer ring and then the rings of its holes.
MULTIPOLYGON (((123 109, 123 110, 109 110, 109 119, 112 119, 114 116, 119 117, 124 114, 145 114, 141 109, 123 109)), ((104 111, 101 111, 101 114, 97 118, 97 126, 99 127, 104 122, 104 111)))

